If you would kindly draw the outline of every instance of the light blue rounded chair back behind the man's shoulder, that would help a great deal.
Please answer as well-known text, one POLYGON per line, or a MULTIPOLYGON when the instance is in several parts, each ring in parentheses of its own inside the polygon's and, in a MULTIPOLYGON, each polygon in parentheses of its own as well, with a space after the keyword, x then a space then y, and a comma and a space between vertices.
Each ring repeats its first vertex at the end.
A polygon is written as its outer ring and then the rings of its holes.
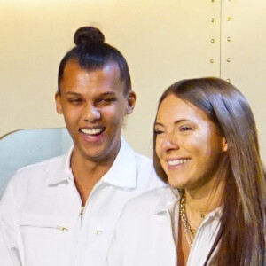
POLYGON ((14 173, 24 166, 59 156, 70 148, 66 129, 24 129, 0 139, 0 199, 14 173))

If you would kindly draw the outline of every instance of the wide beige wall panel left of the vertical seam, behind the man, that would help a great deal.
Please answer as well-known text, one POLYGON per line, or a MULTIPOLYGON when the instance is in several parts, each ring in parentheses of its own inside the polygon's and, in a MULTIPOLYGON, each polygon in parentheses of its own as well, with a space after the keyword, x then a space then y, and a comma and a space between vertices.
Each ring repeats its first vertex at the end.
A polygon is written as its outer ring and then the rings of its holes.
POLYGON ((75 29, 84 25, 101 28, 128 59, 137 106, 123 134, 141 153, 150 154, 161 92, 182 78, 220 74, 220 1, 0 0, 0 5, 0 135, 64 125, 53 104, 57 68, 75 29))

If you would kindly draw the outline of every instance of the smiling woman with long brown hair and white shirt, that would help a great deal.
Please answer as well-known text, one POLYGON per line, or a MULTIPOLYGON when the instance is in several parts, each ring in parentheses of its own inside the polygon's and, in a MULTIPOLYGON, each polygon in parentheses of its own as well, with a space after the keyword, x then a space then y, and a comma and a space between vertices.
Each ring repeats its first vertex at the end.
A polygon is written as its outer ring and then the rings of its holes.
POLYGON ((129 202, 107 265, 266 265, 265 172, 239 90, 218 78, 171 85, 154 122, 153 163, 170 186, 129 202))

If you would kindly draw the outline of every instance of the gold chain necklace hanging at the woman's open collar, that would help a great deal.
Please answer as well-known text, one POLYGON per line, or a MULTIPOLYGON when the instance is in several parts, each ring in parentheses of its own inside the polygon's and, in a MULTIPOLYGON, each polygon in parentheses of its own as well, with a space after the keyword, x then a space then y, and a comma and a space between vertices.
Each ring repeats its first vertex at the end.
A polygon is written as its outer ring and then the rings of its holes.
POLYGON ((185 239, 187 240, 190 247, 192 247, 193 240, 197 233, 197 230, 194 229, 188 221, 186 211, 185 211, 185 193, 183 193, 181 200, 180 200, 180 209, 179 215, 181 218, 182 223, 184 224, 184 234, 185 239))

